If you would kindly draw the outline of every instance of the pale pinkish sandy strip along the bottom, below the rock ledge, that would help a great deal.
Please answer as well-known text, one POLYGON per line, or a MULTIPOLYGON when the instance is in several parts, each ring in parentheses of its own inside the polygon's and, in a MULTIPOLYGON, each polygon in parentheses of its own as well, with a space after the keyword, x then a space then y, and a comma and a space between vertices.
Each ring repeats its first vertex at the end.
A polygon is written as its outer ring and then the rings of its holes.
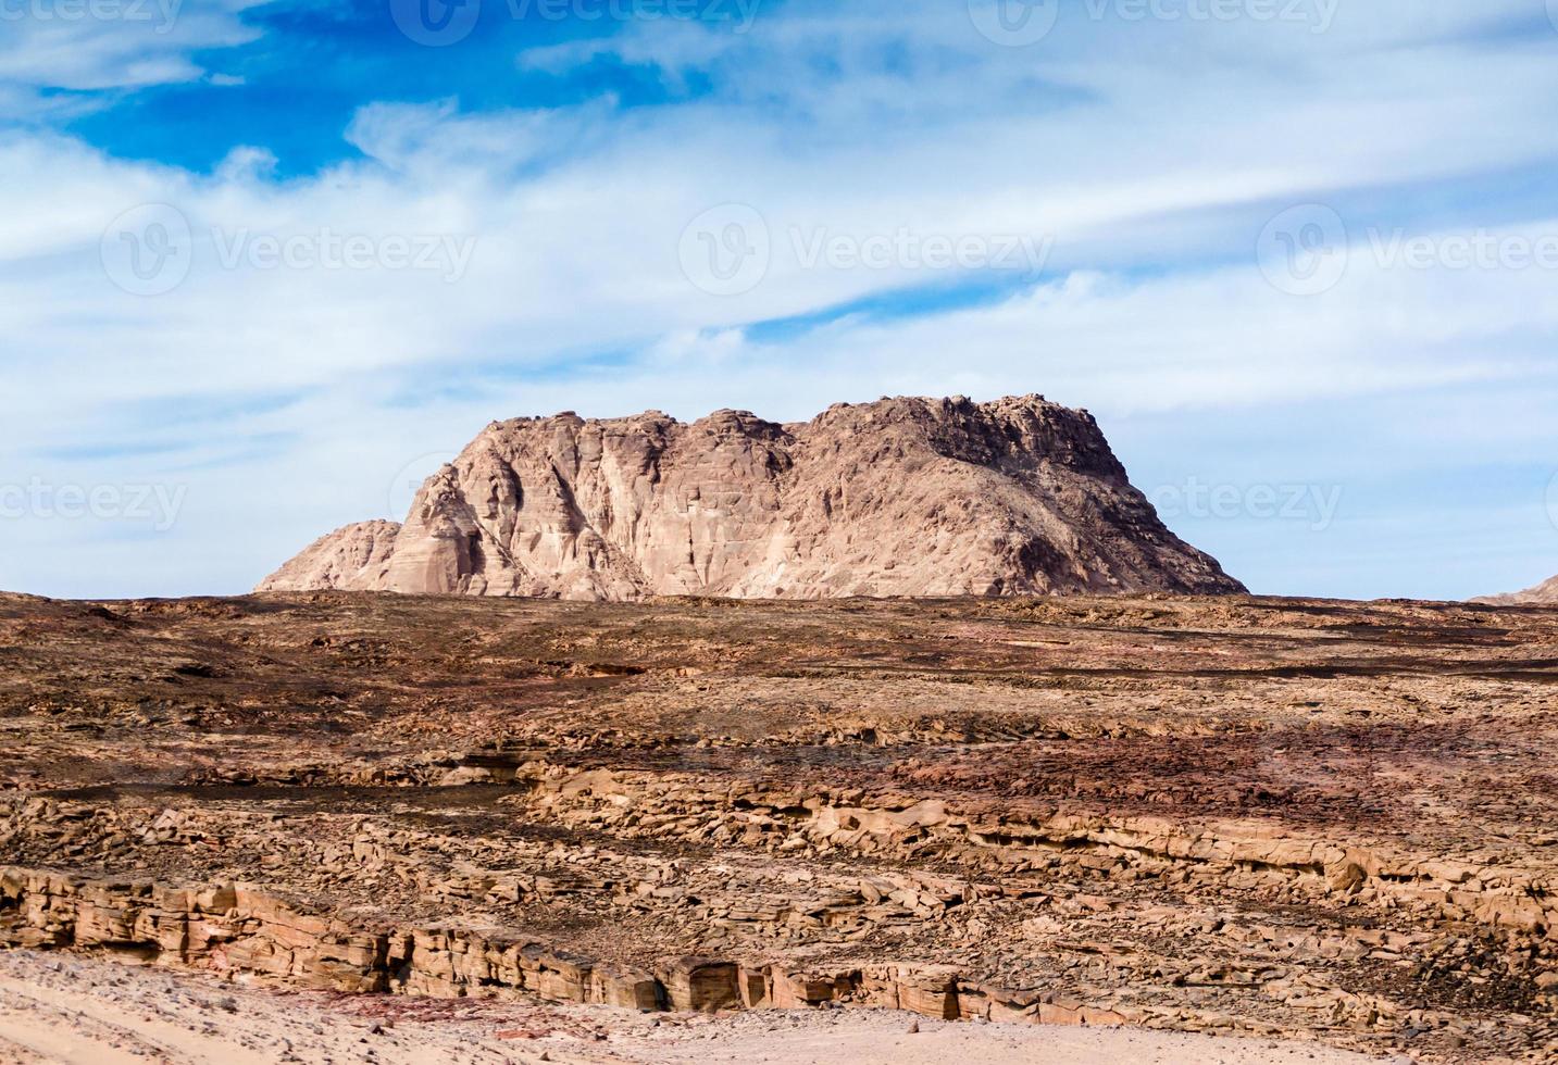
POLYGON ((949 1025, 888 1011, 732 1017, 243 987, 76 954, 0 953, 0 1062, 882 1062, 883 1065, 1351 1065, 1270 1040, 949 1025), (918 1025, 919 1031, 911 1031, 918 1025))

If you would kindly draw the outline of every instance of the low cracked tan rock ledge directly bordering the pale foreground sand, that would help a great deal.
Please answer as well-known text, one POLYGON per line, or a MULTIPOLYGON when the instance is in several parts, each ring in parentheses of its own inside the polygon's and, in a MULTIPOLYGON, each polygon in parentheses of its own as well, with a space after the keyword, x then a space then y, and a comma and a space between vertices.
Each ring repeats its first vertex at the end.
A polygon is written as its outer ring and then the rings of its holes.
POLYGON ((651 973, 500 928, 375 926, 310 914, 241 883, 174 888, 9 866, 0 867, 0 945, 108 950, 162 965, 349 993, 528 993, 561 1003, 682 1012, 802 1009, 848 1000, 851 1006, 907 1009, 943 1020, 988 1018, 994 998, 1011 1020, 1125 1021, 1106 1009, 1059 1006, 1053 995, 960 989, 957 968, 946 965, 880 962, 824 976, 781 964, 687 954, 664 959, 651 973))

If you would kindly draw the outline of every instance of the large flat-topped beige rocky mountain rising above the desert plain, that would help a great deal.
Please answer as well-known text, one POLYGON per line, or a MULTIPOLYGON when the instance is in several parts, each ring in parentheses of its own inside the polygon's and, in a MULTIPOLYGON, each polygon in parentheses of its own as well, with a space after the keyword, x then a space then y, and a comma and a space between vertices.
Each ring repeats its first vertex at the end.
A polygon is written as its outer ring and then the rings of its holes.
POLYGON ((494 422, 404 526, 308 547, 259 590, 634 599, 1226 593, 1097 424, 1042 397, 891 399, 777 425, 718 411, 494 422), (393 537, 393 539, 391 539, 393 537))

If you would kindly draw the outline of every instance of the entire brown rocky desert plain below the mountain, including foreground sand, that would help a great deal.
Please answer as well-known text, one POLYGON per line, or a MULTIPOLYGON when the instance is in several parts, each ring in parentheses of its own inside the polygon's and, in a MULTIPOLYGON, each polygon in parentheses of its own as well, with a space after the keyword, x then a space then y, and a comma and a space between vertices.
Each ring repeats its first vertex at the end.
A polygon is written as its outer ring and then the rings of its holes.
POLYGON ((1558 610, 3 596, 0 665, 20 1060, 1558 1056, 1558 610))

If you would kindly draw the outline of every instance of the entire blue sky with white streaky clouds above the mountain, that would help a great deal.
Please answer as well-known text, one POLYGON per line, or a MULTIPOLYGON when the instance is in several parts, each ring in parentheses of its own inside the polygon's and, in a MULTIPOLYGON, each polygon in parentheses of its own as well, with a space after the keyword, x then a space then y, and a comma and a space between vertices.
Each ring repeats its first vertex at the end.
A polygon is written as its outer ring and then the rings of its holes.
POLYGON ((1092 409, 1257 592, 1558 573, 1558 0, 19 0, 0 587, 243 592, 495 417, 1092 409))

